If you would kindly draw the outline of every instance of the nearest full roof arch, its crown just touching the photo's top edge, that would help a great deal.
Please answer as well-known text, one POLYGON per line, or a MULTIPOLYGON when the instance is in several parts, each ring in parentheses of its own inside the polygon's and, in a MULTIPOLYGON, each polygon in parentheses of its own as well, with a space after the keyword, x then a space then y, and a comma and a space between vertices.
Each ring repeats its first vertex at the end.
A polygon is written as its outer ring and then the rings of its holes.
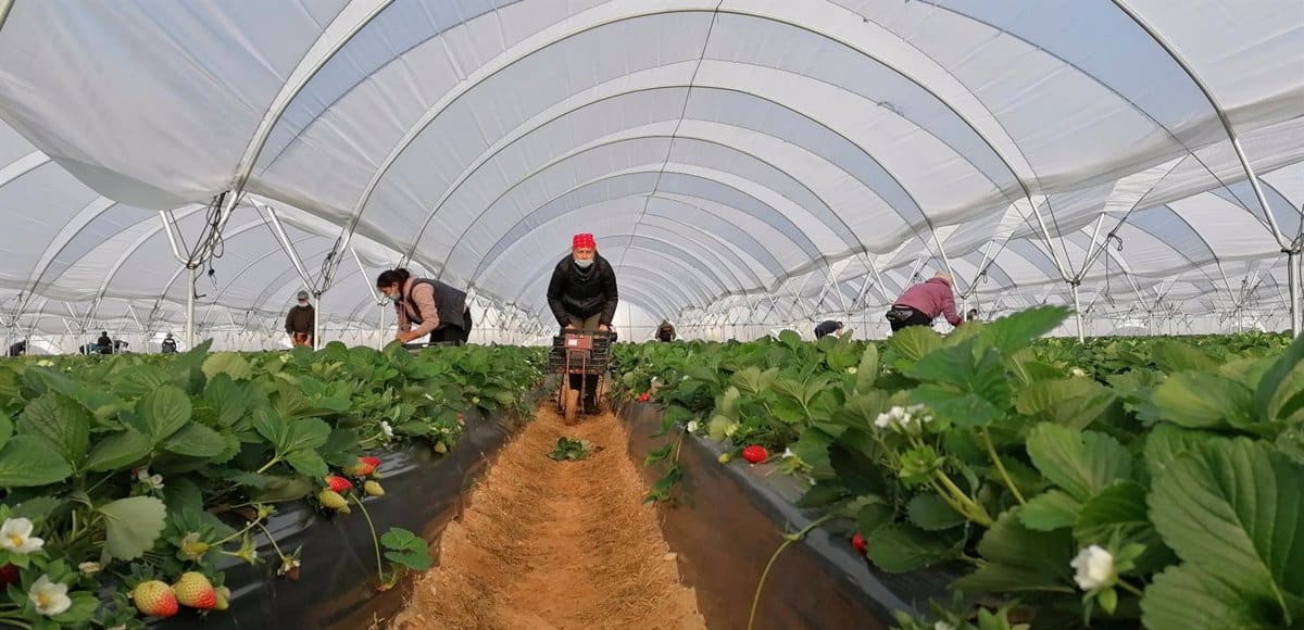
MULTIPOLYGON (((462 89, 460 91, 458 91, 458 93, 456 93, 456 94, 454 94, 452 97, 449 97, 449 95, 446 94, 446 95, 445 95, 445 98, 441 98, 441 99, 439 99, 439 102, 434 103, 434 104, 433 104, 433 106, 432 106, 430 108, 428 108, 428 111, 426 111, 426 115, 424 115, 424 116, 422 116, 422 119, 421 119, 421 120, 420 120, 420 121, 417 123, 417 125, 415 125, 413 128, 409 128, 409 130, 408 130, 408 133, 407 133, 407 134, 404 136, 404 138, 403 138, 403 140, 402 140, 402 141, 399 142, 399 145, 396 145, 396 146, 395 146, 395 147, 394 147, 394 149, 391 150, 390 155, 389 155, 389 157, 386 158, 386 160, 385 160, 385 162, 383 162, 383 163, 381 164, 381 167, 379 167, 379 168, 377 170, 377 172, 376 172, 376 173, 373 175, 372 180, 370 180, 370 181, 368 183, 366 188, 364 189, 364 193, 363 193, 363 194, 360 196, 360 198, 359 198, 357 203, 355 205, 355 211, 353 211, 353 213, 351 213, 351 218, 349 218, 349 223, 348 223, 348 226, 347 226, 347 227, 344 228, 344 232, 342 233, 342 241, 343 241, 344 244, 347 244, 347 243, 348 243, 348 239, 351 239, 351 237, 352 237, 352 232, 353 232, 353 231, 356 230, 356 227, 357 227, 357 222, 359 222, 359 219, 360 219, 360 215, 361 215, 361 211, 363 211, 363 210, 365 209, 365 206, 366 206, 366 202, 368 202, 368 200, 370 198, 370 194, 372 194, 372 192, 373 192, 373 190, 374 190, 374 188, 376 188, 376 187, 378 185, 379 180, 381 180, 381 179, 383 179, 385 173, 387 173, 389 168, 390 168, 390 167, 393 166, 393 163, 394 163, 394 162, 395 162, 395 160, 398 159, 398 157, 399 157, 399 155, 400 155, 400 154, 402 154, 402 153, 403 153, 403 151, 404 151, 404 150, 407 149, 407 146, 408 146, 408 145, 411 145, 411 142, 413 142, 413 141, 415 141, 415 138, 416 138, 417 136, 420 136, 420 133, 421 133, 421 132, 424 130, 424 128, 425 128, 426 125, 429 125, 429 124, 430 124, 430 121, 433 121, 433 119, 438 116, 438 113, 442 113, 442 112, 443 112, 443 111, 445 111, 445 110, 446 110, 446 108, 449 107, 449 104, 451 104, 451 103, 456 102, 456 100, 458 100, 458 99, 459 99, 459 98, 460 98, 462 95, 464 95, 464 94, 468 94, 469 91, 472 91, 472 90, 473 90, 473 87, 479 86, 480 83, 482 83, 482 82, 484 82, 484 81, 486 81, 488 78, 490 78, 490 77, 496 76, 497 73, 502 72, 502 70, 503 70, 505 68, 510 68, 510 67, 511 67, 511 65, 514 65, 515 63, 518 63, 518 61, 520 61, 520 60, 523 60, 523 59, 526 59, 526 57, 531 56, 531 55, 532 55, 533 52, 537 52, 539 50, 544 50, 544 48, 548 48, 548 47, 550 47, 550 46, 553 46, 553 44, 556 44, 556 43, 558 43, 558 42, 562 42, 562 40, 566 40, 566 39, 570 39, 570 38, 572 38, 572 37, 575 37, 575 35, 579 35, 579 34, 582 34, 582 33, 585 33, 585 31, 588 31, 588 30, 591 30, 591 29, 596 29, 596 27, 601 27, 601 26, 606 26, 606 25, 610 25, 610 23, 617 23, 617 22, 621 22, 621 21, 626 21, 626 20, 635 20, 635 18, 640 18, 640 17, 649 17, 649 16, 657 16, 657 14, 669 14, 669 13, 694 13, 694 12, 696 12, 696 13, 704 13, 705 10, 703 10, 703 9, 675 9, 675 10, 660 10, 660 12, 649 12, 649 13, 644 13, 644 14, 634 14, 634 16, 625 16, 625 17, 621 17, 621 18, 618 18, 618 20, 612 20, 612 21, 608 21, 608 22, 601 22, 601 23, 599 23, 599 25, 595 25, 595 26, 591 26, 591 27, 587 27, 587 29, 582 29, 582 30, 572 30, 572 31, 567 33, 566 35, 561 37, 559 39, 556 39, 556 40, 553 40, 553 42, 549 42, 548 44, 545 44, 545 46, 542 46, 542 47, 540 47, 540 48, 536 48, 535 51, 529 51, 529 52, 526 52, 524 55, 518 55, 518 56, 515 56, 515 57, 512 59, 512 61, 510 61, 510 63, 509 63, 509 64, 506 64, 505 67, 502 67, 502 68, 498 68, 498 69, 496 69, 496 70, 493 70, 493 72, 488 73, 488 74, 486 74, 485 77, 482 77, 482 78, 480 78, 480 80, 477 80, 477 81, 472 82, 471 85, 468 85, 468 86, 463 87, 463 89, 462 89), (443 103, 443 104, 441 106, 441 103, 443 103), (432 112, 434 112, 434 115, 432 115, 432 112)), ((742 12, 742 10, 733 10, 733 9, 722 9, 722 8, 720 8, 720 7, 717 7, 717 8, 716 8, 715 10, 712 10, 711 13, 712 13, 712 14, 717 14, 717 13, 721 13, 721 12, 722 12, 722 13, 729 13, 729 14, 738 14, 738 16, 747 16, 747 17, 754 17, 754 18, 760 18, 760 20, 768 20, 768 21, 773 21, 773 22, 776 22, 776 23, 782 23, 782 25, 786 25, 786 26, 790 26, 790 27, 795 27, 795 29, 802 29, 802 30, 806 30, 806 31, 808 31, 808 33, 812 33, 812 34, 816 34, 816 35, 820 35, 820 37, 824 37, 825 39, 829 39, 829 40, 833 40, 833 42, 837 42, 837 43, 840 43, 840 44, 842 44, 842 46, 846 46, 848 48, 852 48, 852 50, 854 50, 854 51, 857 51, 857 52, 859 52, 859 53, 865 55, 865 56, 866 56, 866 57, 868 57, 868 59, 872 59, 874 61, 878 61, 878 63, 879 63, 879 64, 882 64, 882 65, 883 65, 884 68, 888 68, 888 69, 891 69, 891 70, 896 72, 897 74, 900 74, 900 76, 901 76, 902 78, 905 78, 906 81, 910 81, 911 83, 914 83, 914 85, 919 86, 919 87, 921 87, 922 90, 925 90, 925 91, 926 91, 927 94, 930 94, 930 95, 931 95, 932 98, 935 98, 935 99, 936 99, 936 100, 938 100, 939 103, 941 103, 941 104, 943 104, 944 107, 947 107, 947 110, 948 110, 948 111, 951 111, 952 113, 955 113, 955 115, 956 115, 956 117, 957 117, 957 119, 958 119, 960 121, 962 121, 962 123, 964 123, 964 124, 965 124, 965 125, 966 125, 966 127, 968 127, 968 128, 969 128, 970 130, 973 130, 973 133, 974 133, 974 134, 975 134, 975 136, 977 136, 977 137, 978 137, 979 140, 982 140, 982 141, 983 141, 983 143, 986 143, 986 145, 987 145, 987 147, 988 147, 988 149, 990 149, 990 150, 992 151, 992 154, 994 154, 994 155, 996 155, 996 157, 998 157, 998 159, 1000 159, 1000 160, 1001 160, 1003 163, 1005 163, 1007 168, 1009 168, 1009 171, 1011 171, 1011 175, 1012 175, 1012 176, 1015 177, 1016 183, 1018 183, 1020 188, 1022 188, 1022 189, 1024 189, 1024 192, 1025 192, 1025 197, 1028 198, 1029 203, 1030 203, 1030 205, 1033 206, 1033 211, 1034 211, 1034 213, 1038 213, 1038 210, 1037 210, 1037 203, 1035 203, 1035 202, 1033 202, 1033 200, 1031 200, 1031 193, 1030 193, 1030 190, 1028 189, 1028 185, 1026 185, 1026 184, 1025 184, 1025 183, 1022 181, 1022 177, 1020 177, 1020 176, 1018 176, 1018 173, 1017 173, 1017 172, 1016 172, 1016 171, 1013 170, 1013 167, 1012 167, 1012 166, 1009 164, 1009 162, 1008 162, 1008 159, 1007 159, 1007 158, 1004 157, 1004 154, 1001 154, 1001 153, 1000 153, 999 150, 996 150, 996 147, 995 147, 995 146, 992 145, 991 140, 990 140, 990 138, 988 138, 988 137, 987 137, 986 134, 983 134, 982 132, 979 132, 979 130, 977 129, 977 127, 974 127, 974 124, 973 124, 973 123, 971 123, 971 121, 970 121, 970 120, 969 120, 968 117, 962 116, 962 115, 961 115, 961 113, 960 113, 960 112, 958 112, 958 111, 957 111, 957 110, 955 108, 955 106, 952 106, 952 104, 951 104, 951 103, 949 103, 948 100, 945 100, 945 99, 940 98, 940 97, 939 97, 939 95, 938 95, 936 93, 934 93, 932 90, 930 90, 930 89, 928 89, 927 86, 922 85, 922 83, 921 83, 919 81, 914 80, 914 78, 913 78, 913 77, 910 77, 909 74, 906 74, 906 73, 904 73, 904 72, 898 70, 898 69, 897 69, 896 67, 893 67, 892 64, 888 64, 888 63, 883 61, 882 59, 879 59, 879 57, 876 57, 876 56, 874 56, 874 55, 871 55, 871 53, 866 52, 865 50, 862 50, 862 48, 859 48, 859 47, 857 47, 857 46, 852 46, 850 43, 846 43, 846 42, 842 42, 842 40, 840 40, 840 39, 835 39, 835 38, 831 38, 831 37, 828 37, 828 35, 825 35, 825 34, 822 34, 822 33, 818 33, 818 31, 815 31, 815 30, 812 30, 812 29, 807 29, 807 27, 805 27, 805 26, 802 26, 802 25, 798 25, 798 23, 794 23, 794 22, 792 22, 792 21, 785 21, 785 20, 778 20, 778 18, 775 18, 775 17, 769 17, 769 16, 762 16, 762 14, 755 14, 755 13, 747 13, 747 12, 742 12)), ((519 44, 518 44, 518 46, 519 46, 519 44)), ((921 52, 921 55, 922 55, 922 52, 921 52)), ((935 63, 934 63, 934 64, 935 64, 935 63)), ((1069 65, 1072 65, 1072 64, 1069 64, 1069 65)), ((957 81, 957 82, 958 82, 958 81, 957 81)), ((988 111, 988 115, 991 115, 991 112, 990 112, 990 111, 988 111)), ((992 116, 992 120, 994 120, 994 121, 996 123, 998 128, 1001 128, 1001 125, 999 124, 999 120, 998 120, 998 119, 995 119, 995 116, 992 116)), ((918 127, 918 125, 917 125, 917 127, 918 127)), ((1003 128, 1001 128, 1001 129, 1003 129, 1003 128)), ((1008 132, 1005 133, 1005 136, 1007 136, 1007 138, 1009 138, 1009 134, 1008 134, 1008 132)), ((1012 143, 1012 146, 1016 146, 1016 149, 1017 149, 1017 143, 1015 143, 1012 138, 1009 138, 1009 140, 1011 140, 1011 143, 1012 143)), ((1026 162, 1026 159, 1025 159, 1025 162, 1026 162)), ((1030 167, 1030 164, 1029 164, 1029 167, 1030 167)), ((921 215, 923 215, 922 210, 921 210, 921 215)), ((923 217, 925 217, 925 218, 927 219, 927 217, 926 217, 926 215, 923 215, 923 217)), ((1041 215, 1039 215, 1039 213, 1038 213, 1038 220, 1041 220, 1041 215)), ((930 227, 931 227, 931 223, 930 223, 930 227)), ((1043 224, 1043 232, 1045 232, 1045 224, 1043 224)), ((335 265, 338 265, 338 262, 336 262, 335 265)))

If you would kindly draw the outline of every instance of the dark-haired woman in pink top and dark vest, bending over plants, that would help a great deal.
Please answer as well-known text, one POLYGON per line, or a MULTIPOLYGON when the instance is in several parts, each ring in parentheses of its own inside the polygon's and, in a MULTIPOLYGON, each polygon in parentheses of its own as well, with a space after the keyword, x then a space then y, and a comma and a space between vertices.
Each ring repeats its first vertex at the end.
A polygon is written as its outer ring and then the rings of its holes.
POLYGON ((394 301, 399 343, 430 335, 430 343, 462 346, 471 339, 467 293, 439 280, 416 278, 407 269, 391 269, 376 279, 376 288, 394 301))

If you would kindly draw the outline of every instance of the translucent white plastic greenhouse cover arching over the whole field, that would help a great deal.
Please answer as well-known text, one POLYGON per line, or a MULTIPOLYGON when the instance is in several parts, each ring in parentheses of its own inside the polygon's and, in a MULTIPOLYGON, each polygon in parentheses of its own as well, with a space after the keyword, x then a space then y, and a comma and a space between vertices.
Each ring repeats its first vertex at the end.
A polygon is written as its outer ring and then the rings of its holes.
POLYGON ((645 323, 700 337, 824 317, 874 334, 944 269, 985 316, 1076 293, 1099 334, 1290 326, 1299 0, 5 14, 10 337, 171 330, 188 280, 170 232, 194 249, 211 219, 206 333, 275 333, 304 286, 329 326, 377 329, 372 279, 407 263, 471 287, 477 326, 548 334, 548 274, 578 231, 645 323))

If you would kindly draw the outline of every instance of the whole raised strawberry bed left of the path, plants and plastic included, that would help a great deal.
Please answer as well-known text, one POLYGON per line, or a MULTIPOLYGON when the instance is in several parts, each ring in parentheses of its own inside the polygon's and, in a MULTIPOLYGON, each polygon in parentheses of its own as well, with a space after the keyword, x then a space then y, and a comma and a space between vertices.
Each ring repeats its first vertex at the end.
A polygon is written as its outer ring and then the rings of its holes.
POLYGON ((366 627, 540 398, 537 348, 0 365, 0 623, 366 627))

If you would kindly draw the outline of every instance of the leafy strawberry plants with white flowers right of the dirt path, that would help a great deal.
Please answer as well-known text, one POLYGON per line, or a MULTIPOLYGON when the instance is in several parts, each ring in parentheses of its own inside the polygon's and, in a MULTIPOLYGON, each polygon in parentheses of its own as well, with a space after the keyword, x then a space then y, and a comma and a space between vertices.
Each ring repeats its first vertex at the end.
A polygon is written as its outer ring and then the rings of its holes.
POLYGON ((879 570, 961 574, 965 599, 901 627, 1304 622, 1304 340, 1039 339, 1065 314, 622 348, 618 387, 782 451, 811 483, 798 505, 879 570))

